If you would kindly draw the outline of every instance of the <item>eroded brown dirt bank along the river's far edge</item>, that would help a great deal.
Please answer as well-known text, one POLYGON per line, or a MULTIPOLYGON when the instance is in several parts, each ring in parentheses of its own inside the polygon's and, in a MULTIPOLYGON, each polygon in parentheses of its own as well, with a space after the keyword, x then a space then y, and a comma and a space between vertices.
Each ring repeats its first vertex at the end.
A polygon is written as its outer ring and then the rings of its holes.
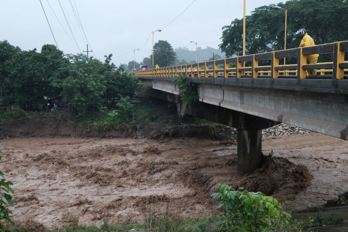
POLYGON ((0 139, 13 137, 100 137, 100 138, 159 138, 159 137, 199 137, 234 139, 234 131, 228 126, 210 125, 162 125, 156 123, 129 124, 87 128, 82 122, 64 115, 55 117, 35 116, 0 122, 0 139))

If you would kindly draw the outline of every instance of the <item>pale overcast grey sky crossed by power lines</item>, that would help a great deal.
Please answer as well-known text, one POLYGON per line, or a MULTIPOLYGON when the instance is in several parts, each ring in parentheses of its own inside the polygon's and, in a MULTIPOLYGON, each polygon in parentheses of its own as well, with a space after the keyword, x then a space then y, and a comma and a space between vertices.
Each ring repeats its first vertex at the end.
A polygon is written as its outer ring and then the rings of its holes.
MULTIPOLYGON (((72 35, 65 21, 58 0, 41 0, 49 23, 56 37, 58 47, 64 53, 79 53, 72 41, 72 35), (53 11, 62 23, 64 32, 53 11)), ((72 32, 81 50, 86 50, 69 0, 60 0, 70 23, 72 32), (70 17, 69 17, 69 16, 70 17)), ((75 7, 74 0, 70 0, 75 7)), ((28 50, 44 44, 54 44, 39 0, 1 0, 0 40, 28 50)), ((133 60, 133 49, 144 46, 151 31, 164 27, 178 16, 192 0, 176 1, 117 1, 117 0, 75 0, 82 26, 96 58, 104 60, 105 54, 113 54, 115 64, 133 60), (127 54, 126 54, 127 53, 127 54), (124 55, 126 54, 126 55, 124 55)), ((281 0, 246 0, 246 14, 255 7, 277 4, 281 0)), ((218 48, 221 27, 229 25, 235 18, 243 17, 243 0, 196 0, 173 23, 162 32, 155 33, 157 40, 167 40, 176 47, 195 49, 198 46, 218 48), (204 30, 207 29, 207 30, 204 30)), ((247 30, 247 29, 246 29, 247 30)), ((151 54, 152 37, 141 51, 136 51, 136 61, 151 54)), ((91 54, 93 55, 93 54, 91 54)))

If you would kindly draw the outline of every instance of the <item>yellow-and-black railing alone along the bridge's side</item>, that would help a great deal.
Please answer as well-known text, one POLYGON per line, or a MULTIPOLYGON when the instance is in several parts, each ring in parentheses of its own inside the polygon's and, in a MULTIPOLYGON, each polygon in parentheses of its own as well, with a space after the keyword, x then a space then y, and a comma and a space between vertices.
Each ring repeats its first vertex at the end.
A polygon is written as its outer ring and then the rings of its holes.
POLYGON ((178 75, 186 75, 191 78, 271 77, 343 79, 346 77, 345 72, 348 71, 348 61, 345 61, 345 51, 348 51, 348 41, 237 56, 194 64, 160 67, 158 69, 136 71, 134 74, 137 77, 177 77, 178 75), (331 62, 307 64, 307 55, 324 53, 332 54, 331 62), (295 57, 297 58, 297 63, 279 65, 279 59, 284 57, 295 57), (268 60, 268 63, 270 61, 271 65, 260 66, 259 61, 262 60, 268 60), (317 69, 317 75, 306 75, 306 71, 310 69, 317 69))

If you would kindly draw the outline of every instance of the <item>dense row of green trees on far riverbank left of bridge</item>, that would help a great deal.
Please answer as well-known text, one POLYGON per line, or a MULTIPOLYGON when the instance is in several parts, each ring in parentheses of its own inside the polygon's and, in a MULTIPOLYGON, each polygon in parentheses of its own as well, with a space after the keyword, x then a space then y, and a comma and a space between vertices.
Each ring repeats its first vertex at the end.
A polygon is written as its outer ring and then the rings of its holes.
POLYGON ((64 54, 54 45, 26 51, 0 41, 0 107, 46 109, 47 98, 56 96, 77 111, 112 107, 121 97, 133 96, 137 78, 111 58, 105 55, 101 62, 84 54, 64 54))

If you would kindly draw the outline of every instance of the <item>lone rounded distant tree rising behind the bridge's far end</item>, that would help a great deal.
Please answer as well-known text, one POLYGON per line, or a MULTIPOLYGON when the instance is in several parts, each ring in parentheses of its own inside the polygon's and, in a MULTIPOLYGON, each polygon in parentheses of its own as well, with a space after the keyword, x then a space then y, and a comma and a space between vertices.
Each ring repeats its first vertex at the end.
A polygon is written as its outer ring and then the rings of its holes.
MULTIPOLYGON (((160 67, 175 65, 176 53, 168 41, 158 40, 153 46, 153 53, 155 55, 155 65, 158 64, 160 67)), ((152 54, 150 60, 152 61, 152 54)))

